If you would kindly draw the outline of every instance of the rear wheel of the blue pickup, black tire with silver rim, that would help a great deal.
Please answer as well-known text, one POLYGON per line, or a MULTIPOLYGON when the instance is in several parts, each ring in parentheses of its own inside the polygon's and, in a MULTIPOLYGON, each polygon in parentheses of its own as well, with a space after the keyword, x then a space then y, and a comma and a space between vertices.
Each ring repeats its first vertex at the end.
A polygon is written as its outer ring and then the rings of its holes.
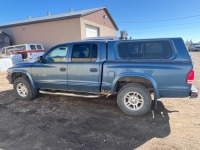
POLYGON ((127 115, 142 116, 151 109, 151 94, 143 85, 130 83, 122 87, 117 95, 119 108, 127 115))

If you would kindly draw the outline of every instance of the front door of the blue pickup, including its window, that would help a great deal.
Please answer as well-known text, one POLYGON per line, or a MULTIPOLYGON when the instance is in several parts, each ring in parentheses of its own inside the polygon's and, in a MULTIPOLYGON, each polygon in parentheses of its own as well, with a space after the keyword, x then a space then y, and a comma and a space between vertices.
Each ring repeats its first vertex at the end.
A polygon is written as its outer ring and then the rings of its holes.
POLYGON ((67 89, 67 54, 68 45, 52 48, 43 57, 43 62, 32 68, 35 84, 43 89, 67 89))

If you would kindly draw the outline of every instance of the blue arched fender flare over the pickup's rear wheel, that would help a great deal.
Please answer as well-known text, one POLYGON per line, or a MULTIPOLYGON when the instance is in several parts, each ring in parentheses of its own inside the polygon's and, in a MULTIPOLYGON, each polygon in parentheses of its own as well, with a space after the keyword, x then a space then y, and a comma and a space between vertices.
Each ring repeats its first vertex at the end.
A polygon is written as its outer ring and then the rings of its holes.
POLYGON ((122 73, 122 74, 119 74, 113 80, 113 83, 112 83, 112 86, 111 86, 112 93, 115 93, 116 87, 117 87, 117 82, 118 82, 119 79, 121 79, 123 77, 139 77, 139 78, 145 78, 145 79, 149 80, 150 83, 153 85, 154 92, 155 92, 155 98, 156 99, 160 98, 158 85, 157 85, 156 81, 150 75, 144 74, 144 73, 122 73))

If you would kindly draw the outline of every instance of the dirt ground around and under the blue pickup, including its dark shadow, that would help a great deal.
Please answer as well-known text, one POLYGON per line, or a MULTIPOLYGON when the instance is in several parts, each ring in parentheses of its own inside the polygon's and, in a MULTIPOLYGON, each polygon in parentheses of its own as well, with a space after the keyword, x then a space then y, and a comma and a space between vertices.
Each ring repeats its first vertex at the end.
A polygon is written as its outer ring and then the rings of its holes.
MULTIPOLYGON (((191 52, 200 90, 200 52, 191 52)), ((161 99, 158 110, 130 117, 114 97, 13 95, 0 74, 0 149, 200 149, 200 98, 161 99)))

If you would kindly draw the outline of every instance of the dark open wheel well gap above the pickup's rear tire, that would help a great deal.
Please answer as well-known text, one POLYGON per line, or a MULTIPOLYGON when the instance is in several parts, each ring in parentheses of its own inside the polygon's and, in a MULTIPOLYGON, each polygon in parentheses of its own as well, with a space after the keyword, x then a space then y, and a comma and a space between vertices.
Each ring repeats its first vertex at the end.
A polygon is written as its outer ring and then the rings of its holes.
POLYGON ((142 77, 123 77, 117 81, 116 86, 116 92, 119 92, 119 90, 128 83, 139 83, 142 84, 144 87, 146 87, 150 93, 154 92, 154 87, 152 83, 145 78, 142 77))

